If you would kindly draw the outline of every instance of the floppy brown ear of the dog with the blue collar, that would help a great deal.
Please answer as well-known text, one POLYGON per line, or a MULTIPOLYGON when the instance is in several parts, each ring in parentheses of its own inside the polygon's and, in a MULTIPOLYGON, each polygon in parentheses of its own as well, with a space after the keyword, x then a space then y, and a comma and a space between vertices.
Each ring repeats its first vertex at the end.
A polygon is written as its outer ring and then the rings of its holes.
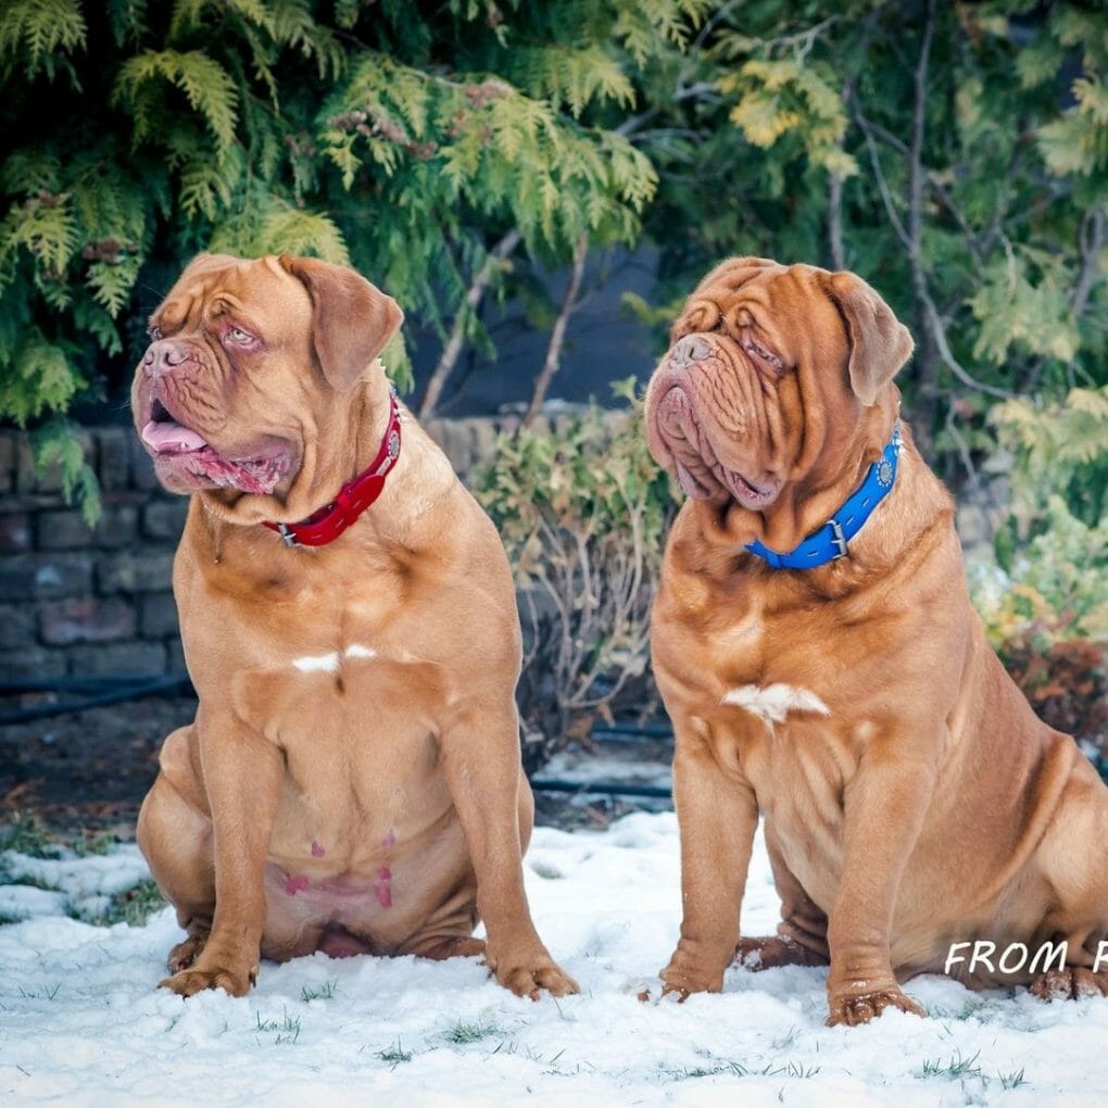
POLYGON ((869 407, 907 361, 914 343, 907 328, 869 285, 851 273, 831 274, 828 294, 850 340, 850 383, 869 407))

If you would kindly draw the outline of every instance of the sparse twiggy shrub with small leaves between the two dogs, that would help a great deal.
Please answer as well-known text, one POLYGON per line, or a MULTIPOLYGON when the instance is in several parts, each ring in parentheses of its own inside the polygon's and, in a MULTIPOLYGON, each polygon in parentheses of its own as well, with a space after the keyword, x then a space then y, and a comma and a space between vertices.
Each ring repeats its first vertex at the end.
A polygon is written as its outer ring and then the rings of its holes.
POLYGON ((527 658, 524 762, 587 733, 647 664, 649 608, 676 509, 649 455, 635 380, 629 407, 595 403, 551 430, 501 435, 472 478, 515 570, 527 658))

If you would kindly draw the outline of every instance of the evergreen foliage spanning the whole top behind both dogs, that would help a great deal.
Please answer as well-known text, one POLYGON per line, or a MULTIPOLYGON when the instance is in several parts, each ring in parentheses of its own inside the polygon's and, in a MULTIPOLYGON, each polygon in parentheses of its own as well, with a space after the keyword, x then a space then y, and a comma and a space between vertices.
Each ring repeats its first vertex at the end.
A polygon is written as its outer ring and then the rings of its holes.
POLYGON ((852 268, 947 476, 998 397, 1108 383, 1102 6, 0 0, 0 72, 18 425, 117 394, 203 248, 348 261, 485 352, 479 278, 548 326, 582 237, 657 247, 659 332, 727 255, 852 268))

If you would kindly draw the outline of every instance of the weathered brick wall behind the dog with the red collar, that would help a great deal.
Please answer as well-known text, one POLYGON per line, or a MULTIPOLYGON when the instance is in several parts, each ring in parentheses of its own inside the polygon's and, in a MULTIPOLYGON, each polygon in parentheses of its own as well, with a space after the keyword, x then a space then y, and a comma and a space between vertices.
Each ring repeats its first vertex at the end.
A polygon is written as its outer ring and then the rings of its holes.
MULTIPOLYGON (((428 431, 464 474, 511 420, 434 420, 428 431)), ((102 488, 90 531, 57 472, 38 476, 27 438, 0 431, 0 677, 184 671, 171 591, 187 500, 161 489, 129 427, 82 432, 102 488)))

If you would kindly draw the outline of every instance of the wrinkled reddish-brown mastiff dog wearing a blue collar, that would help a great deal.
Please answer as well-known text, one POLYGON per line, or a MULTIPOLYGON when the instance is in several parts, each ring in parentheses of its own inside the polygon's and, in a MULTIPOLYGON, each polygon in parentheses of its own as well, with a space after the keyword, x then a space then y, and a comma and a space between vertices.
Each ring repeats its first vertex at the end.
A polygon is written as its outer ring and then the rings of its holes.
POLYGON ((830 1024, 920 1013, 897 984, 920 973, 1108 993, 1108 788, 988 647, 951 497, 899 425, 911 350, 852 274, 736 258, 650 382, 650 450, 689 496, 653 616, 681 831, 666 992, 720 989, 738 954, 830 963, 830 1024), (759 813, 783 922, 740 941, 759 813))

